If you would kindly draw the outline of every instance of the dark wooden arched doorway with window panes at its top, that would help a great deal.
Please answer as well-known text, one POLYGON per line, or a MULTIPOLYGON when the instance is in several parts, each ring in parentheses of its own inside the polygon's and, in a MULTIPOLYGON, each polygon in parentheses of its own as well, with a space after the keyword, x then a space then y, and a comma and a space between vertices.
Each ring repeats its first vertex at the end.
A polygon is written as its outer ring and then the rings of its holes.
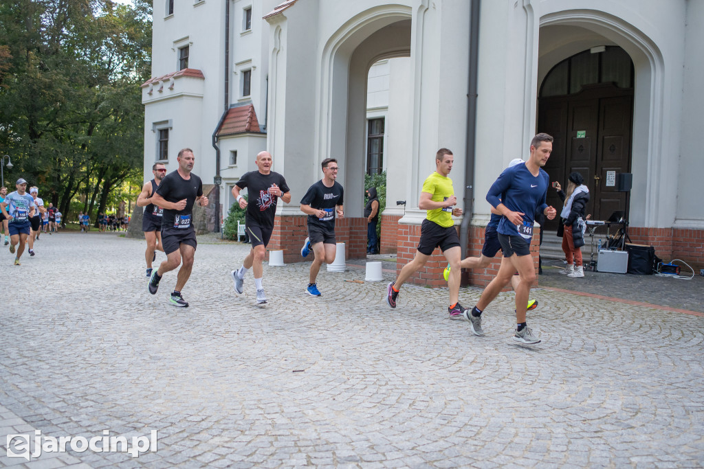
MULTIPOLYGON (((627 193, 616 174, 631 171, 634 65, 618 46, 601 46, 562 60, 546 75, 538 99, 538 131, 555 137, 545 167, 551 181, 567 185, 570 172, 584 176, 593 219, 626 210, 627 193)), ((556 191, 548 204, 562 205, 556 191)), ((558 219, 546 229, 557 229, 558 219)))

